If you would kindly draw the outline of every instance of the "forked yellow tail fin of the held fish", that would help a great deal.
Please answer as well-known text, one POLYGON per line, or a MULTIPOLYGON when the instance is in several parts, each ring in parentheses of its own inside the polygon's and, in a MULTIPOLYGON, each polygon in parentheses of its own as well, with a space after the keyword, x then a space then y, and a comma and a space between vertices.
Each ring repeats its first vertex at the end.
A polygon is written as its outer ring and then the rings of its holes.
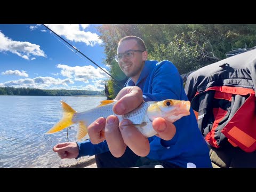
POLYGON ((62 104, 62 110, 63 110, 62 119, 45 134, 56 133, 74 124, 74 122, 72 122, 72 118, 74 114, 76 114, 76 111, 73 108, 71 108, 66 102, 64 101, 60 101, 60 102, 62 104))

